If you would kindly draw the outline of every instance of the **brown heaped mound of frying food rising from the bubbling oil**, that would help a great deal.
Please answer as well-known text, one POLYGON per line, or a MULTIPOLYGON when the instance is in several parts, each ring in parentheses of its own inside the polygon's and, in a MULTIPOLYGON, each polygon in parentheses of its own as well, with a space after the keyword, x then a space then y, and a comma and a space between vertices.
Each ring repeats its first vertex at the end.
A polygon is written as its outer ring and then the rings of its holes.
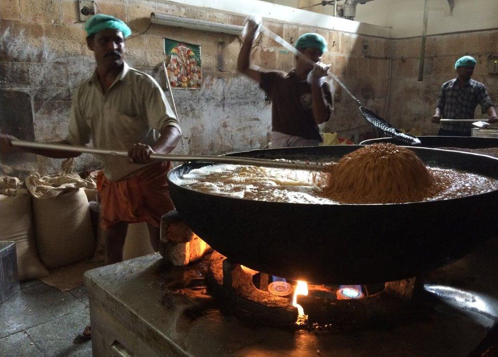
POLYGON ((443 189, 412 150, 390 143, 343 156, 323 187, 325 196, 342 203, 414 202, 443 189))

